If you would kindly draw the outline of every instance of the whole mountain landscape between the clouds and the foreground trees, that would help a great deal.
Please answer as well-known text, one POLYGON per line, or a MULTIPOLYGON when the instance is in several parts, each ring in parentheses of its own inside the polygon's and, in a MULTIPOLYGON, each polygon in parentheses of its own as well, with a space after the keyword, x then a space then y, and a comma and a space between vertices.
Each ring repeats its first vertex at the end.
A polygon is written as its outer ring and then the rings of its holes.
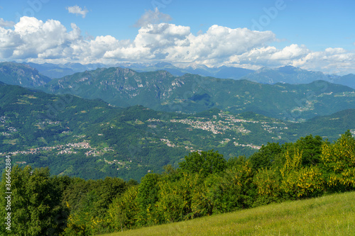
POLYGON ((102 67, 50 79, 28 64, 3 62, 0 155, 48 166, 53 174, 139 180, 166 164, 176 167, 193 151, 219 150, 228 159, 249 156, 267 142, 355 133, 349 86, 251 81, 251 75, 285 80, 295 74, 304 82, 322 77, 295 67, 264 68, 238 80, 102 67))

